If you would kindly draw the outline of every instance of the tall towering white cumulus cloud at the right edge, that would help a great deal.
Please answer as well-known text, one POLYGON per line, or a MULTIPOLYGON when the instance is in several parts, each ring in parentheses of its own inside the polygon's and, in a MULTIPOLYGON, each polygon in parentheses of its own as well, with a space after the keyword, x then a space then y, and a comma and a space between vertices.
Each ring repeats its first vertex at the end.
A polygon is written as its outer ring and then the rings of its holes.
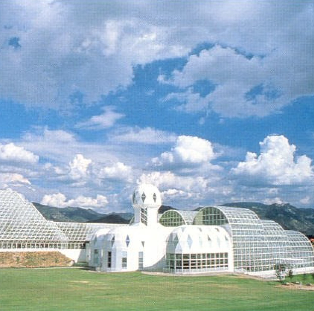
POLYGON ((246 159, 231 170, 241 183, 250 185, 311 185, 314 171, 306 155, 295 157, 296 147, 283 135, 260 142, 260 155, 247 152, 246 159))

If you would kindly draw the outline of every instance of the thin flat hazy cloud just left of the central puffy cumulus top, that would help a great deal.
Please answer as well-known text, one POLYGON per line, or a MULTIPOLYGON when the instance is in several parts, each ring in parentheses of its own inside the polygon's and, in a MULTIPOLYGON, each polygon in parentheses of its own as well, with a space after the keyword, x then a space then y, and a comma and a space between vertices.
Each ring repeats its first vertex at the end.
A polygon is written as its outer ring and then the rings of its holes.
POLYGON ((171 143, 176 140, 176 135, 166 131, 153 129, 151 127, 146 128, 129 128, 124 127, 116 130, 110 135, 111 141, 116 142, 131 142, 141 144, 163 144, 171 143))

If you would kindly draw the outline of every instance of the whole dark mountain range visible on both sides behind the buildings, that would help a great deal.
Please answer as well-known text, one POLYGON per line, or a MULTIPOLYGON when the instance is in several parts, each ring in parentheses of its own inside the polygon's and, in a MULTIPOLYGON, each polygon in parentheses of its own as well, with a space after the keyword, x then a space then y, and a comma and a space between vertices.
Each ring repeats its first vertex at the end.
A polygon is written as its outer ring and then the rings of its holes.
MULTIPOLYGON (((33 203, 39 212, 52 221, 90 222, 109 224, 128 224, 133 213, 98 213, 91 208, 65 207, 57 208, 33 203)), ((249 208, 261 218, 270 219, 279 223, 286 230, 297 230, 307 236, 314 235, 314 209, 297 208, 290 204, 263 204, 257 202, 225 203, 223 206, 249 208)), ((159 213, 176 209, 162 205, 159 213)), ((199 208, 197 208, 199 209, 199 208)))

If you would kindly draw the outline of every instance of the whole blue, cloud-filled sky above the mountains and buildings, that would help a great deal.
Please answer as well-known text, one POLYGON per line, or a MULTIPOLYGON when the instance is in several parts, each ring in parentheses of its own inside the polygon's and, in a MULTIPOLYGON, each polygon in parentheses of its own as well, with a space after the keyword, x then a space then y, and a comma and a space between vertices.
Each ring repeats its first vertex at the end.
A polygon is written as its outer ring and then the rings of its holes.
POLYGON ((0 188, 313 208, 313 55, 314 1, 0 0, 0 188))

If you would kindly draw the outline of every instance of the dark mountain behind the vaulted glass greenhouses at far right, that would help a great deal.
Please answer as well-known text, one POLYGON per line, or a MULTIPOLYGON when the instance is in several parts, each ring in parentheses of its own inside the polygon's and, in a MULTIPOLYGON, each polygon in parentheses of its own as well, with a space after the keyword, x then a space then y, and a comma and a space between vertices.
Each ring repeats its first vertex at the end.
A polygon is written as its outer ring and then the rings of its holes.
POLYGON ((223 206, 249 208, 261 219, 270 219, 286 230, 314 235, 314 208, 297 208, 290 204, 262 204, 256 202, 226 203, 223 206))

